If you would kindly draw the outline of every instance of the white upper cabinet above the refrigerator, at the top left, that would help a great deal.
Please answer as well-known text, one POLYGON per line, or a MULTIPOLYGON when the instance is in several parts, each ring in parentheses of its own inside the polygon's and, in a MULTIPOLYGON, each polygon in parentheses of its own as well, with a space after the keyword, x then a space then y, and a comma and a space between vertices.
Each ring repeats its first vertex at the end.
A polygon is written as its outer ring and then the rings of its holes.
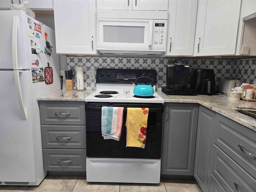
POLYGON ((52 10, 52 0, 0 0, 0 9, 10 9, 10 5, 12 4, 22 4, 24 2, 28 2, 28 4, 24 4, 28 6, 28 8, 32 10, 52 10))

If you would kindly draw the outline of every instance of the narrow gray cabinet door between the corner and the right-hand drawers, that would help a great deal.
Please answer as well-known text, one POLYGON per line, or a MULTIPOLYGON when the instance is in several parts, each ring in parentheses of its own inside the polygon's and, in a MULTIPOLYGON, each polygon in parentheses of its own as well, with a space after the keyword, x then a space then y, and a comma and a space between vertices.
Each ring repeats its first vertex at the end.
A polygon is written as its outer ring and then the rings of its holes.
POLYGON ((215 128, 216 112, 201 106, 198 113, 198 127, 196 136, 196 154, 194 165, 194 177, 203 192, 209 191, 213 131, 215 128))

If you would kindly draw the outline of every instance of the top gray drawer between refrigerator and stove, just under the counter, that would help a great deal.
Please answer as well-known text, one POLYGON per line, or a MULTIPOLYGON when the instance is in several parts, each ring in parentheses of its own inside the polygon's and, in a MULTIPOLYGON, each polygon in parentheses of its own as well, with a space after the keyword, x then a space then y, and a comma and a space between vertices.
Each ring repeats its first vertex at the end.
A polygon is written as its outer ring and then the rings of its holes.
POLYGON ((40 101, 43 125, 85 125, 85 102, 40 101))

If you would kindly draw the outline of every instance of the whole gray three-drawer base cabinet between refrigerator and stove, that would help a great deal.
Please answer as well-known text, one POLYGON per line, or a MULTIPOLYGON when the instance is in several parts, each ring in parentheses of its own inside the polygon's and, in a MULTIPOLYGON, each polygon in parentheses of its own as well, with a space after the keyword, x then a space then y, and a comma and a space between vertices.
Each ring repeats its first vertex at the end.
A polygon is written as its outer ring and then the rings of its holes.
POLYGON ((44 170, 86 171, 85 102, 40 101, 44 170))

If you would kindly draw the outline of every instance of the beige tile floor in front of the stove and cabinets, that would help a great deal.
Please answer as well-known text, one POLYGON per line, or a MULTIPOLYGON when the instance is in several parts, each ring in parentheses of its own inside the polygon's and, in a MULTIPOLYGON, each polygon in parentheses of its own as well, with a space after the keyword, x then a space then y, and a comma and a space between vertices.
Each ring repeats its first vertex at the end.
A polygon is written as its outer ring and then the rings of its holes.
POLYGON ((202 192, 196 181, 161 180, 160 184, 88 183, 85 177, 46 176, 39 186, 0 186, 1 192, 202 192))

